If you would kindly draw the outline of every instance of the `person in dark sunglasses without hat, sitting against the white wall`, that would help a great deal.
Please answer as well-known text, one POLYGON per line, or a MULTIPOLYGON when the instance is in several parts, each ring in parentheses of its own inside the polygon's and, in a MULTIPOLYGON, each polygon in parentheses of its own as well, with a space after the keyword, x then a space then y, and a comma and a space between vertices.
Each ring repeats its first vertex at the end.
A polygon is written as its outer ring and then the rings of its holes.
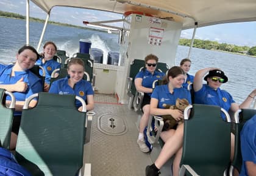
POLYGON ((144 92, 143 101, 141 103, 141 110, 143 111, 143 116, 140 120, 139 125, 139 135, 138 135, 138 146, 141 152, 149 152, 149 147, 146 146, 144 141, 143 131, 146 126, 148 126, 148 120, 150 115, 150 100, 151 93, 153 91, 152 84, 155 80, 162 80, 165 73, 158 72, 157 67, 158 58, 155 55, 148 55, 145 58, 145 68, 137 73, 135 76, 135 87, 138 92, 144 92))

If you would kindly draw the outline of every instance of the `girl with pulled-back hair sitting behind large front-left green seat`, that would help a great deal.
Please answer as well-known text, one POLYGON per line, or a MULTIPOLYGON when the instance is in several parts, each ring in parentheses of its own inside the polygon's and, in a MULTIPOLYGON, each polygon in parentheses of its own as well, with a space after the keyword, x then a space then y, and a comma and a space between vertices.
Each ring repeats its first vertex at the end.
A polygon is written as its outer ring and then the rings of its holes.
MULTIPOLYGON (((84 62, 82 59, 73 58, 68 63, 68 76, 60 80, 54 81, 51 85, 49 93, 71 94, 80 96, 87 102, 87 110, 94 107, 93 87, 91 83, 83 80, 84 62)), ((76 107, 82 110, 82 104, 76 100, 76 107)))

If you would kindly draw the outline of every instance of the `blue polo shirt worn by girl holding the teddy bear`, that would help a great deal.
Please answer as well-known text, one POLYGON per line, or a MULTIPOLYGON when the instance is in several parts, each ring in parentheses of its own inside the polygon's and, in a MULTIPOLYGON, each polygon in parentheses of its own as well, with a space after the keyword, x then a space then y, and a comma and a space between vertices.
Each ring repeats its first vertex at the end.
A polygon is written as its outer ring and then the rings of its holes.
POLYGON ((183 87, 174 89, 173 93, 169 92, 168 84, 155 87, 151 98, 158 100, 158 108, 164 108, 163 104, 174 105, 176 104, 177 98, 185 98, 191 104, 191 95, 187 89, 183 87))

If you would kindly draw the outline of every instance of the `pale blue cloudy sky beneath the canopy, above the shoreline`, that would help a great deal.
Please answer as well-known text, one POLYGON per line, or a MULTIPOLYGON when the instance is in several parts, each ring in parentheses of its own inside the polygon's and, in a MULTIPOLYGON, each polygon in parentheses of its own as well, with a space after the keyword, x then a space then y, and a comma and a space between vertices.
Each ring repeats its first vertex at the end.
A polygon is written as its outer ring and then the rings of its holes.
MULTIPOLYGON (((26 1, 23 0, 1 0, 0 10, 5 12, 26 15, 26 1)), ((35 18, 46 18, 46 13, 30 2, 30 16, 35 18)), ((122 19, 122 15, 96 10, 80 8, 54 7, 50 21, 64 22, 73 25, 81 25, 82 21, 104 21, 122 19)), ((119 24, 121 25, 121 24, 119 24)), ((229 24, 211 25, 196 30, 196 39, 217 41, 219 43, 235 44, 237 46, 256 46, 256 22, 238 22, 229 24)), ((181 37, 191 39, 192 29, 182 30, 181 37)))

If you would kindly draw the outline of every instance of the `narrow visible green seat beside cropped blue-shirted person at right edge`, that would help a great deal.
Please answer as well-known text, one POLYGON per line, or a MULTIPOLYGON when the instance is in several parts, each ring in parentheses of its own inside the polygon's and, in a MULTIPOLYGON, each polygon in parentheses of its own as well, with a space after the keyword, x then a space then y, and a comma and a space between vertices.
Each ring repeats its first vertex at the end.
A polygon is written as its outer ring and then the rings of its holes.
POLYGON ((244 123, 247 120, 252 118, 256 114, 256 109, 240 109, 235 112, 235 123, 234 123, 234 132, 235 132, 235 151, 233 161, 229 169, 229 175, 232 176, 234 169, 239 173, 241 172, 241 167, 243 163, 241 146, 240 146, 240 132, 243 129, 244 123))

